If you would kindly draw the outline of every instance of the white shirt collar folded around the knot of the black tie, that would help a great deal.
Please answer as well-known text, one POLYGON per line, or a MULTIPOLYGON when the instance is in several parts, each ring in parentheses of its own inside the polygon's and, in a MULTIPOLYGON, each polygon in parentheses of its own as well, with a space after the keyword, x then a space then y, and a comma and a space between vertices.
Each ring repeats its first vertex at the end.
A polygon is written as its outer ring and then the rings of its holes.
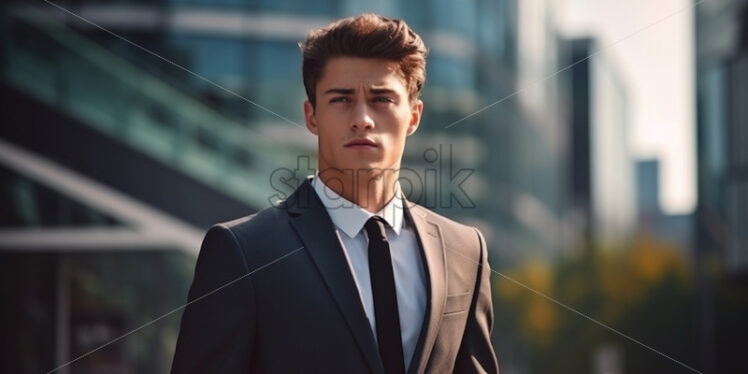
POLYGON ((327 209, 332 222, 349 237, 353 238, 358 235, 366 221, 375 215, 382 217, 392 227, 395 234, 400 235, 403 226, 403 200, 399 182, 397 183, 395 196, 376 214, 356 205, 327 187, 319 178, 319 171, 314 173, 312 185, 322 201, 322 205, 327 209))

